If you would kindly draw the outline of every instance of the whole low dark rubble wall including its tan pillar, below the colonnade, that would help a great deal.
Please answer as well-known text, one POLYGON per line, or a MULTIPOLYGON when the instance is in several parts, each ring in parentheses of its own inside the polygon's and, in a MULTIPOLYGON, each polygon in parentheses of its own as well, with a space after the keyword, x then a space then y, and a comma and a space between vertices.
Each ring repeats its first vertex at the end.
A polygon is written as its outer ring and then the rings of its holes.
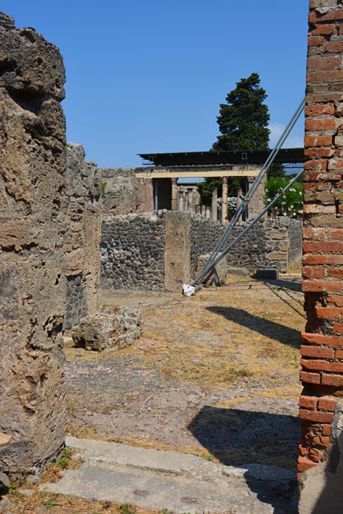
MULTIPOLYGON (((230 241, 245 226, 240 223, 230 241)), ((209 253, 223 231, 223 225, 187 212, 107 216, 102 222, 101 286, 181 290, 191 279, 198 256, 209 253)), ((285 271, 301 256, 301 234, 300 221, 263 218, 228 253, 227 263, 257 263, 285 271)))

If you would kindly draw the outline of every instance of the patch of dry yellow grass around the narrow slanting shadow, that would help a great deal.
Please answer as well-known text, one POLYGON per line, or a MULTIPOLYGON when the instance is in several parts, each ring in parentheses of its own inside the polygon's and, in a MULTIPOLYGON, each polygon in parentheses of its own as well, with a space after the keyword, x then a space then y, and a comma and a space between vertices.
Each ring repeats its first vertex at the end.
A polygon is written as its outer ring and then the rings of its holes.
MULTIPOLYGON (((143 337, 154 342, 143 349, 145 366, 212 388, 242 377, 268 380, 278 370, 294 375, 305 323, 302 295, 261 283, 250 287, 251 279, 234 278, 231 287, 144 309, 143 337)), ((125 352, 141 354, 139 345, 125 352)))

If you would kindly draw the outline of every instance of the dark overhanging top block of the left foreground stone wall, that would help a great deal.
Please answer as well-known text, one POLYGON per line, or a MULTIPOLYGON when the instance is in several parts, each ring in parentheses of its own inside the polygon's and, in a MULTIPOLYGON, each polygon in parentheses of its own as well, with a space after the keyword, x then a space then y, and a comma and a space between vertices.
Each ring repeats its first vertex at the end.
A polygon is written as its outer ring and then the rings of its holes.
POLYGON ((33 28, 16 29, 0 12, 0 87, 10 93, 65 98, 65 68, 57 46, 33 28))

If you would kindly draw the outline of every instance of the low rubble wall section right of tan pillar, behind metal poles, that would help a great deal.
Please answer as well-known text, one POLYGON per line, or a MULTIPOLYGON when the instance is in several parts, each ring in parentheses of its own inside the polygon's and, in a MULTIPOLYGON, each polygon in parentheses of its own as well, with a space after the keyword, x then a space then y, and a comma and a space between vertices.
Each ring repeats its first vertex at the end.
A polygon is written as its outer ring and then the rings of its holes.
MULTIPOLYGON (((239 223, 228 244, 246 227, 239 223)), ((191 229, 191 271, 199 255, 209 253, 224 231, 221 224, 196 216, 191 229)), ((286 271, 301 256, 302 224, 288 217, 262 218, 227 254, 228 266, 257 263, 286 271)), ((226 247, 227 245, 225 245, 226 247)), ((225 248, 224 247, 224 248, 225 248)))

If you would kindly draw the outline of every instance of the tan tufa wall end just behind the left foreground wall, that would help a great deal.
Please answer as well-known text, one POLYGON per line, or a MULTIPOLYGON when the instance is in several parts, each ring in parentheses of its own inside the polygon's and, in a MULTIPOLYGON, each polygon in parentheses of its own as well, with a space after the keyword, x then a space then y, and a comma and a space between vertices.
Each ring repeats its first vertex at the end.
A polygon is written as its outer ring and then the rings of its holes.
POLYGON ((67 307, 63 328, 70 330, 86 314, 98 309, 101 260, 101 175, 85 161, 81 144, 67 143, 66 151, 67 307))

